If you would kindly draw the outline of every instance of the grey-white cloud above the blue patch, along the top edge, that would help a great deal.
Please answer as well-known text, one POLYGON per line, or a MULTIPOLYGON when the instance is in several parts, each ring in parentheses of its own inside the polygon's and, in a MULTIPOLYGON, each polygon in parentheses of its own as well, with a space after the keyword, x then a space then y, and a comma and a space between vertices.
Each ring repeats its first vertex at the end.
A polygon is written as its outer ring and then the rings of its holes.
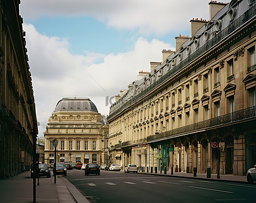
POLYGON ((22 0, 26 19, 41 16, 90 16, 118 29, 138 28, 144 35, 188 28, 192 18, 209 19, 206 0, 22 0))

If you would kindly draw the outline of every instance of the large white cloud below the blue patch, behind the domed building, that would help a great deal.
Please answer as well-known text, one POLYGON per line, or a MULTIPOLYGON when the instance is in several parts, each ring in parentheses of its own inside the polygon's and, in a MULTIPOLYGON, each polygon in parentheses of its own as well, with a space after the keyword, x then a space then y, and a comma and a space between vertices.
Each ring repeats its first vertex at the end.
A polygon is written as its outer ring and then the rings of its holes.
POLYGON ((140 70, 149 71, 150 61, 161 61, 161 51, 169 44, 156 39, 137 39, 127 53, 72 55, 67 39, 47 37, 32 24, 24 24, 30 70, 41 123, 39 135, 62 97, 89 97, 102 114, 108 114, 106 97, 112 97, 134 81, 140 70), (100 64, 93 62, 102 59, 100 64))

